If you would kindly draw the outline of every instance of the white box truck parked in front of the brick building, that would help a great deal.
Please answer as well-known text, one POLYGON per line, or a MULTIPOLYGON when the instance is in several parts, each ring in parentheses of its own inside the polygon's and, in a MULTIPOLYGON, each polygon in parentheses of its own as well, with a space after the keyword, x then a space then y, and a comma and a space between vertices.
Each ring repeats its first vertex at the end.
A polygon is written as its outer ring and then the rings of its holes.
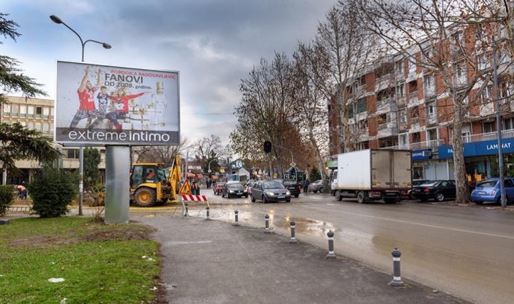
POLYGON ((368 149, 337 156, 331 192, 337 200, 399 202, 412 185, 410 150, 368 149))

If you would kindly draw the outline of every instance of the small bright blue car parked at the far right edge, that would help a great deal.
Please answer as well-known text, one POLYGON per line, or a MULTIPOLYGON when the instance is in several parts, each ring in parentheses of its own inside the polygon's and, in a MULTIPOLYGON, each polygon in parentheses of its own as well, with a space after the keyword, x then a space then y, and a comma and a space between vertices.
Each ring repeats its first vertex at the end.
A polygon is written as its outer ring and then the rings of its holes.
MULTIPOLYGON (((505 178, 505 199, 507 203, 514 199, 514 179, 505 178)), ((501 203, 500 179, 489 178, 476 185, 471 192, 471 201, 476 204, 484 202, 501 203)))

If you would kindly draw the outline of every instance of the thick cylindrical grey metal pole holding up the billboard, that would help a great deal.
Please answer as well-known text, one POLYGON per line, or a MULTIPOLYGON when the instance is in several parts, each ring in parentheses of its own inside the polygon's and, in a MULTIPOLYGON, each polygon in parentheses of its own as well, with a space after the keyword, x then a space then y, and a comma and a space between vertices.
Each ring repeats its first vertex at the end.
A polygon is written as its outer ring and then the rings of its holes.
POLYGON ((105 223, 127 224, 131 169, 130 147, 105 147, 105 223))

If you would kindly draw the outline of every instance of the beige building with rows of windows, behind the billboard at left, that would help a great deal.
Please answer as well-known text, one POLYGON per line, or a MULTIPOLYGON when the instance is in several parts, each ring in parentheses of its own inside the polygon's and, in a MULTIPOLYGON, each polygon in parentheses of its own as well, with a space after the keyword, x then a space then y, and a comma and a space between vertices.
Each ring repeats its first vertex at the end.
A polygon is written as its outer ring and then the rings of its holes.
MULTIPOLYGON (((53 100, 8 96, 8 103, 2 105, 1 120, 4 123, 20 123, 29 129, 35 129, 44 136, 53 138, 54 131, 54 103, 53 100)), ((56 149, 60 149, 63 158, 60 160, 61 167, 69 170, 79 168, 79 148, 66 147, 54 143, 56 149)), ((101 163, 99 166, 102 182, 105 177, 105 148, 99 148, 101 155, 101 163)), ((21 160, 16 162, 16 169, 10 169, 7 172, 7 183, 17 184, 22 181, 30 182, 34 175, 34 170, 41 167, 41 164, 35 160, 21 160)), ((2 170, 0 168, 0 170, 2 170)), ((2 172, 3 174, 3 172, 2 172)), ((0 182, 2 180, 0 179, 0 182)))

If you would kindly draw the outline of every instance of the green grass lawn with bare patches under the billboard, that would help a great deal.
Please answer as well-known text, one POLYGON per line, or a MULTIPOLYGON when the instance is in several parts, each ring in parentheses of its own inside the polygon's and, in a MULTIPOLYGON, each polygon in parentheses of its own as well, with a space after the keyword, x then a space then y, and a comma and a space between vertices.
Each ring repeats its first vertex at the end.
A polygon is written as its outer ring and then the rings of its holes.
POLYGON ((0 225, 0 303, 157 302, 160 258, 151 232, 71 216, 0 225))

